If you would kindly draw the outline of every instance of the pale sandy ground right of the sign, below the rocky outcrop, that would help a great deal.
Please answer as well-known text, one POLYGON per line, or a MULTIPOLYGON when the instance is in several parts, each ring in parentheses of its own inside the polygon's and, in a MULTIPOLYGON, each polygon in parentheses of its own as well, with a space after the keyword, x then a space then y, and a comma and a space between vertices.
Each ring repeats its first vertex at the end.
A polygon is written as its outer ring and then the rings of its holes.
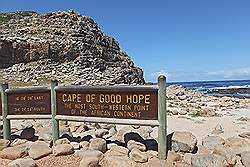
POLYGON ((241 117, 250 119, 250 109, 240 109, 220 112, 221 117, 189 117, 189 116, 168 116, 168 134, 173 131, 189 131, 198 139, 201 144, 202 138, 213 135, 211 132, 219 124, 223 133, 219 136, 223 138, 238 136, 242 132, 250 131, 250 120, 237 120, 241 117))

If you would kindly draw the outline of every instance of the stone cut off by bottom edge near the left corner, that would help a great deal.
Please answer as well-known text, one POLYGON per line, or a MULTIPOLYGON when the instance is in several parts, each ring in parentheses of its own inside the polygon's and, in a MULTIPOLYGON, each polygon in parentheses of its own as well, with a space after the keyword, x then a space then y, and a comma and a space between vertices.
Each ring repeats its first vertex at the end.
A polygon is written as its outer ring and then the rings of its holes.
POLYGON ((37 167, 37 165, 32 158, 20 158, 10 162, 8 167, 37 167))

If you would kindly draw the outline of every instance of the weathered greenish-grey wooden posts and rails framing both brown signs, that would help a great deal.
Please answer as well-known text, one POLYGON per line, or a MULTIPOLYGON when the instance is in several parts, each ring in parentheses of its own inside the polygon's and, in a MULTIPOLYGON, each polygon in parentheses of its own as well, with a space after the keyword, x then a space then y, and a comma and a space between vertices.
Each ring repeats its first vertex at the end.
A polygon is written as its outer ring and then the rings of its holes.
POLYGON ((19 88, 8 89, 8 84, 4 83, 0 85, 1 91, 1 104, 2 104, 2 120, 3 120, 3 137, 4 139, 11 139, 11 125, 10 120, 14 119, 51 119, 52 122, 52 139, 53 143, 59 139, 59 120, 66 121, 84 121, 84 122, 96 122, 96 123, 112 123, 123 125, 146 125, 158 127, 158 155, 160 159, 166 159, 167 156, 167 109, 166 109, 166 77, 160 75, 158 77, 158 86, 95 86, 95 87, 60 87, 58 81, 52 80, 49 88, 45 87, 33 87, 33 88, 19 88), (29 92, 29 91, 49 91, 51 95, 51 115, 8 115, 8 93, 13 92, 29 92), (116 119, 116 118, 100 118, 100 117, 83 117, 83 116, 65 116, 57 115, 57 91, 59 90, 77 91, 77 90, 95 90, 95 91, 112 91, 124 89, 134 91, 157 91, 158 105, 158 120, 145 120, 145 119, 116 119))

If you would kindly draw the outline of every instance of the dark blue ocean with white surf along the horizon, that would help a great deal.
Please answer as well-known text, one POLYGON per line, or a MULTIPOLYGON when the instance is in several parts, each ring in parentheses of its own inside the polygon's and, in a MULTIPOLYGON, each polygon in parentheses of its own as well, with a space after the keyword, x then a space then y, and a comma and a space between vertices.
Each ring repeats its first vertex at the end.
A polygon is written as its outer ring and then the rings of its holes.
POLYGON ((171 82, 167 85, 182 85, 211 96, 250 98, 250 80, 171 82))

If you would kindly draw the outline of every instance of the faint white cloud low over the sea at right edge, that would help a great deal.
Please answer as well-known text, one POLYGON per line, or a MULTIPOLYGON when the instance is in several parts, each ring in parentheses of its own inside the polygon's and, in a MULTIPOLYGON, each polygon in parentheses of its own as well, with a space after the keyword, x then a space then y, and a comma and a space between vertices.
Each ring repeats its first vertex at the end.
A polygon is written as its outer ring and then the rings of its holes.
POLYGON ((250 68, 246 67, 246 68, 212 71, 212 72, 208 72, 208 75, 217 75, 217 76, 219 75, 225 78, 250 77, 250 68))

